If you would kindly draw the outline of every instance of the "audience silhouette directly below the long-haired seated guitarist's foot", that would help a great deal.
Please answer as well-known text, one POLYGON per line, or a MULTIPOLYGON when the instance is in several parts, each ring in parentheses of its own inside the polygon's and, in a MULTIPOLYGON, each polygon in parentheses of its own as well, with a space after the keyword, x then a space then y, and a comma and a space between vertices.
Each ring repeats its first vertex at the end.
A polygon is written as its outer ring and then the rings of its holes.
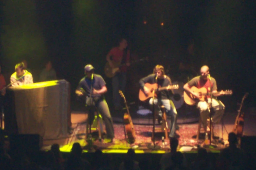
MULTIPOLYGON (((171 167, 173 165, 172 157, 177 152, 177 148, 179 146, 179 140, 175 137, 170 138, 170 148, 171 152, 163 154, 160 160, 161 170, 165 170, 167 167, 171 167)), ((182 166, 187 167, 187 160, 183 155, 182 166)))

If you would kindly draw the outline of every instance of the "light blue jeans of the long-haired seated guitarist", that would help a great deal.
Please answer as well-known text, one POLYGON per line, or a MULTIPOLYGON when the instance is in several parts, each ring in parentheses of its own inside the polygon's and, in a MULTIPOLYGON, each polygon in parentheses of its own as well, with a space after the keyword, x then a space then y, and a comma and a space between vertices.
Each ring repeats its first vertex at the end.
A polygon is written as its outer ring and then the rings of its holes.
MULTIPOLYGON (((169 137, 174 137, 175 131, 176 131, 177 110, 173 102, 169 99, 162 99, 161 103, 166 109, 166 116, 171 117, 169 137)), ((153 105, 153 98, 149 100, 149 104, 153 105)), ((155 113, 159 113, 159 115, 162 117, 162 111, 158 105, 157 98, 154 99, 154 110, 155 110, 155 113)))

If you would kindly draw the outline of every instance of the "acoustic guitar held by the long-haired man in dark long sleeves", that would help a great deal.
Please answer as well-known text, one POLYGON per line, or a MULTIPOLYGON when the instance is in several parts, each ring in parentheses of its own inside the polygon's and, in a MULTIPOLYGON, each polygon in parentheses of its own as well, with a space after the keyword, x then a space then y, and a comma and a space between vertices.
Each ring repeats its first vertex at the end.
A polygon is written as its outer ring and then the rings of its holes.
POLYGON ((157 83, 154 83, 154 84, 145 83, 145 86, 148 89, 150 89, 150 92, 148 94, 146 94, 143 89, 140 89, 140 91, 139 91, 139 99, 141 101, 145 101, 145 100, 147 100, 148 98, 151 98, 151 97, 157 97, 157 93, 155 93, 155 92, 160 92, 162 90, 179 89, 179 84, 169 85, 169 86, 166 86, 166 87, 159 87, 159 88, 157 88, 158 87, 157 83))

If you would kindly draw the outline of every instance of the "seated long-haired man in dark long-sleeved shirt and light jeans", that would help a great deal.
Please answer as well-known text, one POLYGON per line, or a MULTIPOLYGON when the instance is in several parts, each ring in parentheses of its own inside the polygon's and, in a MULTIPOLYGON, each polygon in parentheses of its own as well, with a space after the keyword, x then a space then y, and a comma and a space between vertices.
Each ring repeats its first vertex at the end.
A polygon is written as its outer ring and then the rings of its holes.
MULTIPOLYGON (((150 93, 150 89, 148 89, 145 86, 145 83, 157 83, 158 87, 167 87, 168 85, 172 85, 171 79, 165 75, 164 68, 162 65, 156 65, 153 71, 153 74, 148 75, 145 78, 140 79, 139 81, 141 88, 144 90, 146 94, 150 93)), ((159 113, 161 115, 160 111, 160 105, 163 105, 166 109, 167 116, 171 117, 171 124, 170 124, 170 134, 169 137, 175 137, 176 135, 179 135, 179 132, 176 131, 176 117, 177 117, 177 111, 176 108, 170 100, 170 93, 167 90, 162 90, 160 92, 156 92, 157 97, 154 99, 154 108, 155 112, 159 113), (177 134, 175 134, 177 133, 177 134)), ((150 98, 149 104, 153 105, 153 98, 150 98)), ((161 115, 162 117, 162 115, 161 115)), ((178 128, 177 128, 178 129, 178 128)))

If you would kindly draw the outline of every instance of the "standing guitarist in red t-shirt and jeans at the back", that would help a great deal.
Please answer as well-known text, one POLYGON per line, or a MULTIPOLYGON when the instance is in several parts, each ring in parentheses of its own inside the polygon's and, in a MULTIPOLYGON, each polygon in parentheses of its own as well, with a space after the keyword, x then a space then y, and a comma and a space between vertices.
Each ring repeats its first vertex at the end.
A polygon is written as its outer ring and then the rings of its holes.
POLYGON ((108 55, 107 61, 111 68, 114 68, 113 62, 126 64, 125 66, 120 67, 120 71, 112 77, 112 90, 113 90, 113 101, 115 110, 120 109, 120 100, 119 90, 125 92, 126 87, 126 76, 127 76, 127 66, 130 66, 130 51, 127 49, 127 40, 121 38, 119 41, 119 46, 112 48, 108 55))

